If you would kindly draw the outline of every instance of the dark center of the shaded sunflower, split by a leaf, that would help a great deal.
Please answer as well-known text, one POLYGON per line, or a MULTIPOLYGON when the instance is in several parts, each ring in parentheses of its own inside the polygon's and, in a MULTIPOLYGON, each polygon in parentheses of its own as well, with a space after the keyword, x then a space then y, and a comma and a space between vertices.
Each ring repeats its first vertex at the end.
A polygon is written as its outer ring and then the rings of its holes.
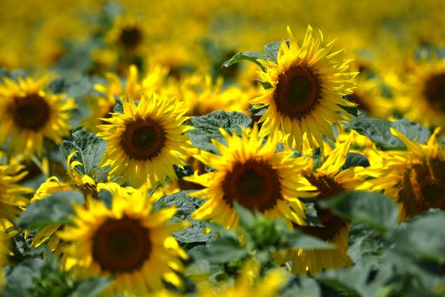
MULTIPOLYGON (((307 179, 319 189, 320 194, 316 197, 317 200, 329 199, 344 191, 343 187, 331 177, 309 175, 307 179)), ((322 240, 333 240, 340 229, 347 225, 347 221, 340 219, 338 216, 334 216, 329 209, 321 209, 317 205, 315 205, 315 209, 323 227, 299 226, 296 224, 294 224, 294 227, 303 233, 318 237, 322 240)))

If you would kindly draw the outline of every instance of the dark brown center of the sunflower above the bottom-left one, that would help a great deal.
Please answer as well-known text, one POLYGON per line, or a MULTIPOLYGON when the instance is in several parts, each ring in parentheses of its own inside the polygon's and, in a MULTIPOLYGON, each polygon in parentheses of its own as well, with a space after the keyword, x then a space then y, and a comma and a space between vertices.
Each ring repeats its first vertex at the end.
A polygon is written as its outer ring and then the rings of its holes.
POLYGON ((126 124, 121 136, 121 146, 130 158, 148 160, 158 156, 165 146, 165 131, 160 124, 150 118, 138 118, 126 124))

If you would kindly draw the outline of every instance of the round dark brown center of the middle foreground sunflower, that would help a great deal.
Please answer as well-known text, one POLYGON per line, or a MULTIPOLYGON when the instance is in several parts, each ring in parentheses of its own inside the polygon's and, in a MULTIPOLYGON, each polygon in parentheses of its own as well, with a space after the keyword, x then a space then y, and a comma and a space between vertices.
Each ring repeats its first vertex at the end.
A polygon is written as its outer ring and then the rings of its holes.
POLYGON ((224 199, 232 205, 238 202, 247 209, 266 211, 281 199, 278 173, 264 161, 235 163, 223 182, 224 199))

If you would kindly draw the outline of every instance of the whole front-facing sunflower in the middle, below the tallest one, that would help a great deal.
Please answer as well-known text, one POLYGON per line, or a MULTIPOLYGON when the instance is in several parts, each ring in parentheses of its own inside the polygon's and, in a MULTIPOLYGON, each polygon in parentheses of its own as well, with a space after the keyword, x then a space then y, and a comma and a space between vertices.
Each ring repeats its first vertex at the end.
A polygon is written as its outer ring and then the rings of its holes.
POLYGON ((192 217, 212 219, 226 228, 235 228, 239 221, 234 207, 237 202, 266 216, 303 223, 304 204, 298 197, 314 197, 309 191, 316 188, 296 172, 307 166, 308 161, 291 158, 290 148, 275 153, 278 134, 264 141, 259 138, 256 125, 250 135, 243 131, 241 137, 235 133, 230 136, 224 129, 220 132, 227 146, 212 140, 220 156, 206 151, 194 155, 215 171, 184 178, 204 187, 194 192, 194 197, 208 199, 192 217))

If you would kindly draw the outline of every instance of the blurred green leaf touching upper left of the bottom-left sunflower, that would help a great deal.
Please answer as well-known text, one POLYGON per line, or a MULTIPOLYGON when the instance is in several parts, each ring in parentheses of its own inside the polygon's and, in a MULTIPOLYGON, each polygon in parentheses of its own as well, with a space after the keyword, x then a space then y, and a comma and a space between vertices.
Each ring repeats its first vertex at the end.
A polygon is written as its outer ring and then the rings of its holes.
POLYGON ((50 223, 67 223, 74 214, 72 204, 83 204, 83 194, 76 191, 56 192, 49 197, 32 202, 18 218, 18 226, 35 229, 50 223))

